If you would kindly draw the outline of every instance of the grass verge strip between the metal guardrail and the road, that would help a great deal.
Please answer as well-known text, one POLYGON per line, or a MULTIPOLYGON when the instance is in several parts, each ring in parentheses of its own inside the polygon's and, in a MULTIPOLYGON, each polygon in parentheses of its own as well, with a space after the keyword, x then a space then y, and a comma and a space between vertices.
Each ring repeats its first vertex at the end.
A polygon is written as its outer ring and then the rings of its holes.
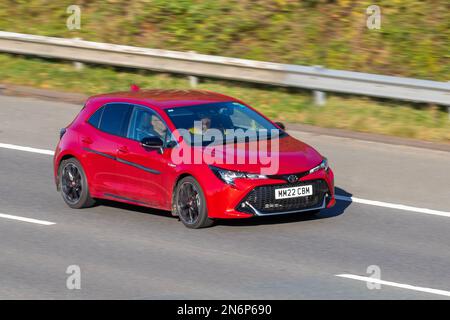
MULTIPOLYGON (((88 95, 124 91, 131 83, 142 88, 188 87, 183 76, 86 66, 77 71, 70 62, 0 55, 0 81, 88 95)), ((327 105, 316 107, 311 93, 292 89, 202 79, 200 89, 240 98, 273 119, 301 122, 429 141, 450 142, 445 110, 426 105, 330 94, 327 105)))

